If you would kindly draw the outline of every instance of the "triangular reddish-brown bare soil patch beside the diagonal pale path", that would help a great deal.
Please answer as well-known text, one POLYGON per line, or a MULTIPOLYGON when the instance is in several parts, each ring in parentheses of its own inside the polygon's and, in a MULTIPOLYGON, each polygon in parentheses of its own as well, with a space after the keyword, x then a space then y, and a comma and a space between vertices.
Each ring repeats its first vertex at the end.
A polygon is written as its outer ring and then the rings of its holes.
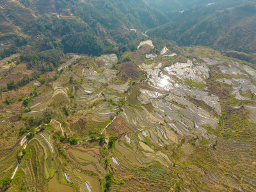
POLYGON ((107 134, 111 136, 120 136, 127 132, 136 132, 130 127, 122 115, 118 115, 111 125, 106 129, 107 134))

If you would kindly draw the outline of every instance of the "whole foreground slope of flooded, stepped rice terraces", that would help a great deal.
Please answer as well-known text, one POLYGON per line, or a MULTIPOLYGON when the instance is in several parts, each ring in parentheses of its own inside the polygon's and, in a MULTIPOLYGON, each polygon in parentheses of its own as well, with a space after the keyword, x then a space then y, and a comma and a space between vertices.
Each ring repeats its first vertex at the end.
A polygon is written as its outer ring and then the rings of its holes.
POLYGON ((154 46, 61 54, 42 74, 24 55, 1 60, 1 188, 256 191, 255 67, 154 46))

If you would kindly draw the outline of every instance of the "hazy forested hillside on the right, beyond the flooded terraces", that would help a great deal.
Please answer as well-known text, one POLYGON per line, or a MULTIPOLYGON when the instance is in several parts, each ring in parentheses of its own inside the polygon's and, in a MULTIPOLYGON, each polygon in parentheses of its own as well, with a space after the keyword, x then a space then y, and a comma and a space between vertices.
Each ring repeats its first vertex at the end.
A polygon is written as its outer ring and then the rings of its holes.
POLYGON ((256 5, 243 4, 234 8, 186 10, 173 17, 168 25, 148 31, 179 45, 206 45, 221 51, 256 51, 256 5), (211 13, 211 14, 209 14, 211 13))

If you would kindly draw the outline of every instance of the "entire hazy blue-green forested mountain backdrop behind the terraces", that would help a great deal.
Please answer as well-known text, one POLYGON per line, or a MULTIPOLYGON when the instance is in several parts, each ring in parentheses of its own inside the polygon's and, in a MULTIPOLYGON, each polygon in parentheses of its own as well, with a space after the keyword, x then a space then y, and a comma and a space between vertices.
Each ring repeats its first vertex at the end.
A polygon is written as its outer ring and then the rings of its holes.
POLYGON ((22 46, 92 55, 124 44, 134 49, 144 31, 178 45, 236 51, 246 60, 256 49, 255 1, 3 0, 0 6, 1 58, 22 46))

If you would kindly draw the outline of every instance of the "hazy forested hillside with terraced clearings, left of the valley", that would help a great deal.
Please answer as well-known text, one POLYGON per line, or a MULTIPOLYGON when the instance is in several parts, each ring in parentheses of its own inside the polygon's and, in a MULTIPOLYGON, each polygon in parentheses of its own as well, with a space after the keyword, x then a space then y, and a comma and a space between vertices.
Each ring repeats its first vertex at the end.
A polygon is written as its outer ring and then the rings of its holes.
POLYGON ((113 52, 116 45, 142 37, 130 29, 143 31, 169 21, 145 1, 4 0, 0 6, 1 58, 25 45, 33 51, 113 52))

